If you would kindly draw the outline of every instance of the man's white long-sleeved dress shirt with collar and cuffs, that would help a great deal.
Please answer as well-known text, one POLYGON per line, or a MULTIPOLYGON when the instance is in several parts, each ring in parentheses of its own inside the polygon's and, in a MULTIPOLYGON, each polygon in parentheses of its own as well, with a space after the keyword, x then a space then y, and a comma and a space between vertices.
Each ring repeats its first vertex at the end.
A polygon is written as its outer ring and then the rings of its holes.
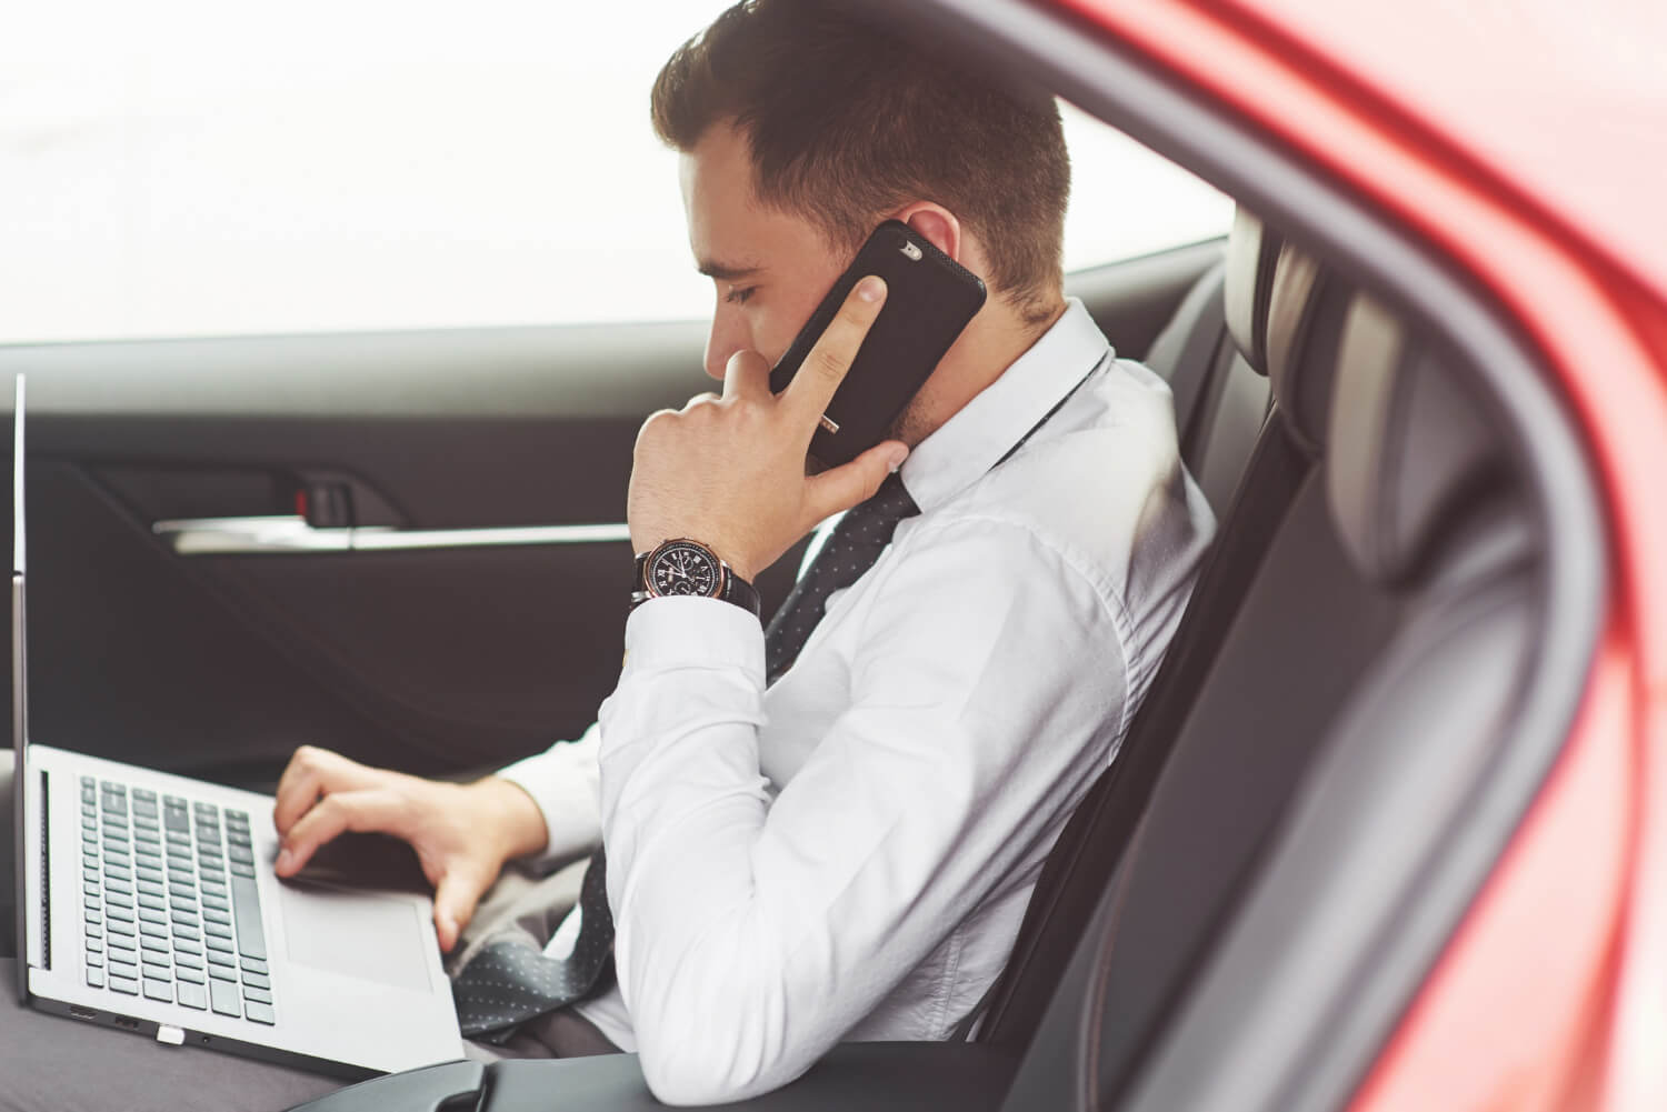
POLYGON ((750 614, 658 599, 625 625, 598 725, 503 772, 550 857, 607 844, 618 985, 580 1010, 663 1100, 775 1089, 840 1040, 950 1034, 1214 530, 1169 387, 1077 300, 902 480, 920 515, 777 684, 750 614))

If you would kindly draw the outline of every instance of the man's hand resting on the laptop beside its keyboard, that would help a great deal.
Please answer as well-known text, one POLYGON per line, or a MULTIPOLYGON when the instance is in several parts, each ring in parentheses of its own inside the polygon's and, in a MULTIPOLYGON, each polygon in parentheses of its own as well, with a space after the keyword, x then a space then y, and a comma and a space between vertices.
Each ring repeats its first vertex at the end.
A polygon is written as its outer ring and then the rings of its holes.
POLYGON ((347 830, 410 842, 435 887, 442 950, 457 945, 503 862, 542 850, 547 837, 538 805, 508 780, 423 780, 312 745, 295 750, 283 770, 273 822, 282 837, 280 877, 293 877, 320 845, 347 830))

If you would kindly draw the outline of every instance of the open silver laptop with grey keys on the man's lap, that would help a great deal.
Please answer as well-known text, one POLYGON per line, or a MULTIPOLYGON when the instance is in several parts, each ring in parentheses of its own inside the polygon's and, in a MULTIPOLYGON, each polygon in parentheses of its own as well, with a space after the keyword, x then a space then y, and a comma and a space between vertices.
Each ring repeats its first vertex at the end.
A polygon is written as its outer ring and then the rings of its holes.
POLYGON ((13 442, 23 1000, 173 1047, 348 1075, 462 1057, 428 897, 280 882, 272 797, 32 744, 22 375, 13 442))

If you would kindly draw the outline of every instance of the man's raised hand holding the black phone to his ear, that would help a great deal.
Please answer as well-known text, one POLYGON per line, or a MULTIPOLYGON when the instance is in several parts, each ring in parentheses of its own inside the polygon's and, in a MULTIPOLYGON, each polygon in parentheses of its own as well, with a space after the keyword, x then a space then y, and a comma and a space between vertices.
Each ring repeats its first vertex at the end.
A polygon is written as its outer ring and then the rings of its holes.
POLYGON ((688 537, 752 580, 818 522, 874 495, 909 455, 900 440, 818 475, 805 473, 805 457, 884 303, 885 282, 859 282, 778 395, 765 358, 737 352, 722 397, 652 415, 637 433, 627 500, 633 548, 688 537))

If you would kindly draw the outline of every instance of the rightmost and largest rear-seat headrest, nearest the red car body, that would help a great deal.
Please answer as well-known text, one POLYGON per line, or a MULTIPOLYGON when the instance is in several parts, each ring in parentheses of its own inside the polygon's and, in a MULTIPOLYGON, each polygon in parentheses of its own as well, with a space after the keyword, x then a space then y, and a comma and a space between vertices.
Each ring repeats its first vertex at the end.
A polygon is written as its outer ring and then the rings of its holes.
POLYGON ((1452 373, 1367 297, 1344 323, 1329 438, 1332 518, 1362 575, 1382 584, 1414 575, 1507 458, 1452 373))

